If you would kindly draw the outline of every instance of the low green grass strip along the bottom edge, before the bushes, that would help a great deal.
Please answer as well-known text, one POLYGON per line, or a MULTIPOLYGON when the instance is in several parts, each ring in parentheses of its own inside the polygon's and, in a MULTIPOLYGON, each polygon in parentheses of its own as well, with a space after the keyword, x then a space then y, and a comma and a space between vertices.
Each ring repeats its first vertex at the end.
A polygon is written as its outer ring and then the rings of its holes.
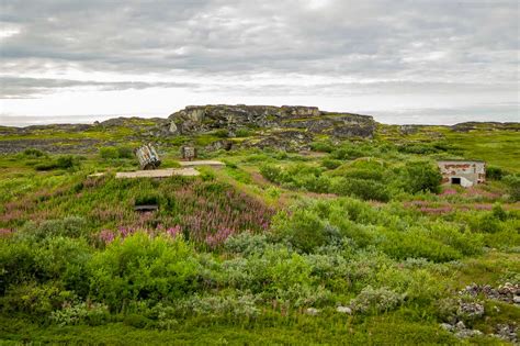
MULTIPOLYGON (((406 321, 403 316, 371 317, 365 321, 336 315, 330 317, 283 317, 238 326, 211 319, 185 321, 172 331, 139 330, 123 323, 102 326, 48 326, 20 320, 0 320, 3 343, 66 343, 110 345, 418 345, 456 344, 436 324, 406 321), (274 325, 273 325, 274 324, 274 325)), ((489 339, 489 342, 491 342, 489 339)))

